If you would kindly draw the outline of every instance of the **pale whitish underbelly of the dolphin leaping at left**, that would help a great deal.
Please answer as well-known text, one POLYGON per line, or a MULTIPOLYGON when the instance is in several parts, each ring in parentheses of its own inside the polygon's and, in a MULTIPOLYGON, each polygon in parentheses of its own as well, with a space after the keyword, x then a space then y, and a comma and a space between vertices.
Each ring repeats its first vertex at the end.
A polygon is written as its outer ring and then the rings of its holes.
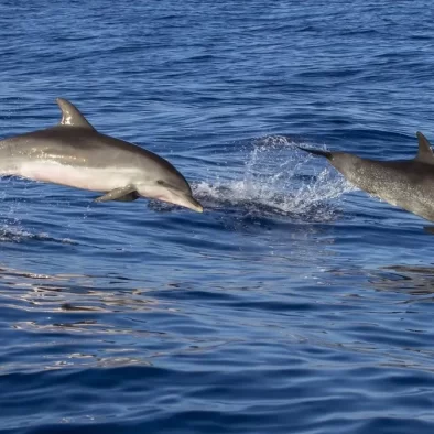
POLYGON ((93 169, 44 161, 21 163, 11 174, 93 192, 124 187, 133 184, 138 175, 137 171, 131 169, 93 169))

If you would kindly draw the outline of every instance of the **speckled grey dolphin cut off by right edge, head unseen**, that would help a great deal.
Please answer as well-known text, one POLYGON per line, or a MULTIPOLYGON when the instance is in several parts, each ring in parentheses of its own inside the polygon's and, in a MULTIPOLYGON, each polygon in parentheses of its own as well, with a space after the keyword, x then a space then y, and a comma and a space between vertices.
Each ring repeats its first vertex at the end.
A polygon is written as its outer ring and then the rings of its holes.
POLYGON ((417 155, 412 160, 378 161, 347 152, 318 151, 299 147, 325 156, 351 184, 360 189, 434 221, 434 154, 421 133, 417 155))

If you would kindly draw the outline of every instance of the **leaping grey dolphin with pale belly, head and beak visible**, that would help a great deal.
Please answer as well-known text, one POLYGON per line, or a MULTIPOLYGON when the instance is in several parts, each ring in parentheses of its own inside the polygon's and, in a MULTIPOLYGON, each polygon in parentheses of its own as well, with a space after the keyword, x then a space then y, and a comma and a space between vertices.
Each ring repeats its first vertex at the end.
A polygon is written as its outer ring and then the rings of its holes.
POLYGON ((62 121, 0 141, 0 176, 106 193, 95 202, 147 197, 202 213, 184 176, 143 148, 96 131, 78 109, 57 98, 62 121))

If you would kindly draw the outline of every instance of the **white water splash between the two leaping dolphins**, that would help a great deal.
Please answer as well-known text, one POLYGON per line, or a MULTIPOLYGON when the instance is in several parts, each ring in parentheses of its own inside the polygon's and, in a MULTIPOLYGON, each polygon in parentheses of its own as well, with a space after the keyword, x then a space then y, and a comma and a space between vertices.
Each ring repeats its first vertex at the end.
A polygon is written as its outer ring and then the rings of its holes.
POLYGON ((337 213, 329 200, 354 187, 324 164, 285 137, 267 137, 253 141, 238 178, 204 181, 193 191, 208 209, 241 208, 250 216, 326 221, 337 213))

